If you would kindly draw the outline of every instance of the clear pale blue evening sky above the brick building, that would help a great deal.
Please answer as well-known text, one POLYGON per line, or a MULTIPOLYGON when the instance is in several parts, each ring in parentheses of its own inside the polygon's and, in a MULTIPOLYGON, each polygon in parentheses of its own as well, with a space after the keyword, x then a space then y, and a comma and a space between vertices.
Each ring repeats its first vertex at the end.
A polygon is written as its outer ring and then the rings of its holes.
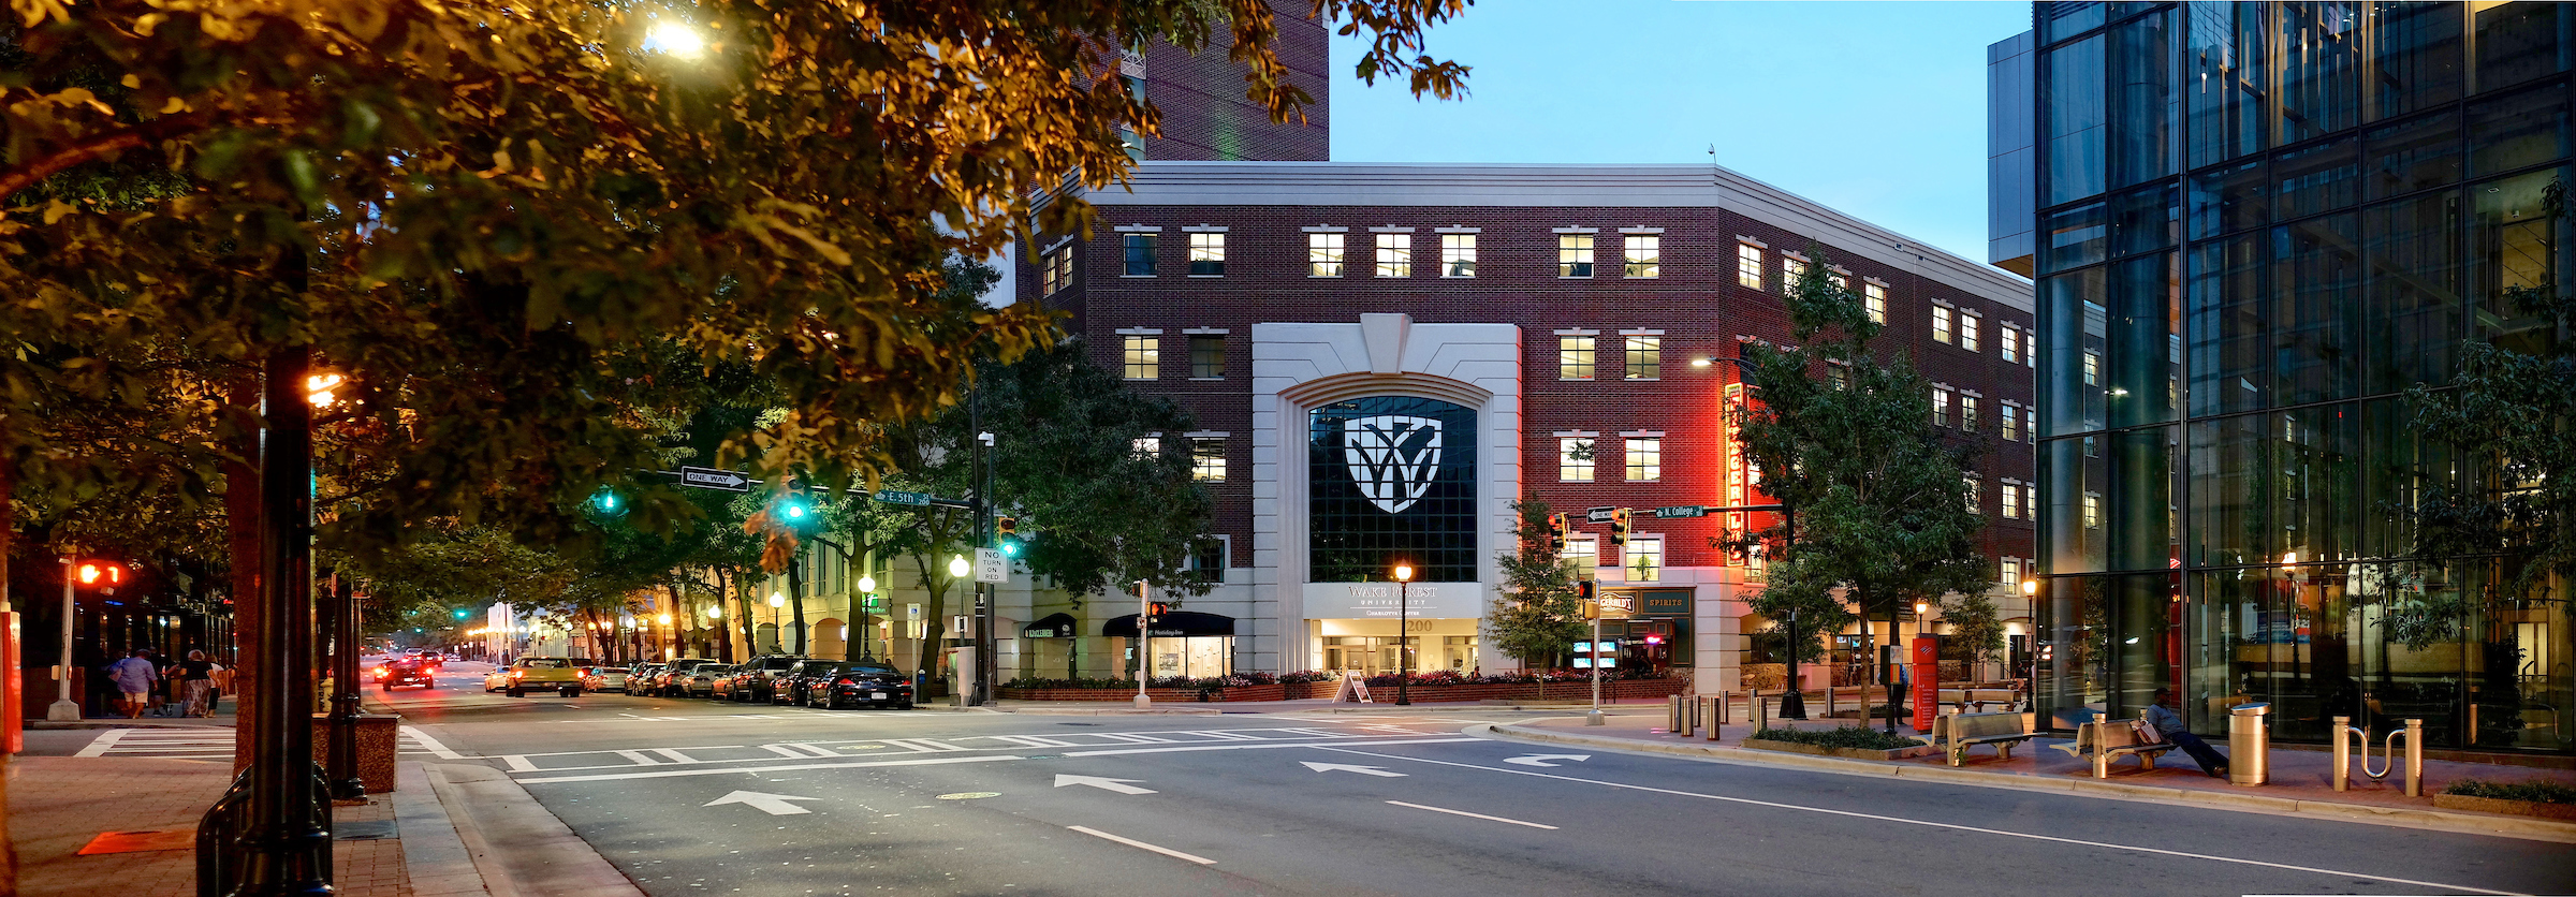
POLYGON ((1481 0, 1425 44, 1463 101, 1334 41, 1332 160, 1713 160, 1984 263, 1986 44, 2022 31, 2030 3, 1481 0))

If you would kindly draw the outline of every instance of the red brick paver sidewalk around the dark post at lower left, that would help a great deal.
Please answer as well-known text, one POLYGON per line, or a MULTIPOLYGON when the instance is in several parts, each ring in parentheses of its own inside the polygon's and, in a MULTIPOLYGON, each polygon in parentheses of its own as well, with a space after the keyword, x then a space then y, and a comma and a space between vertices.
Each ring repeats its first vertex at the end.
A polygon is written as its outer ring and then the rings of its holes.
MULTIPOLYGON (((100 833, 193 830, 232 784, 224 760, 15 758, 8 766, 8 835, 26 897, 193 897, 196 851, 77 856, 100 833)), ((335 807, 337 822, 392 820, 394 802, 335 807)), ((340 894, 412 897, 402 840, 337 840, 340 894)))

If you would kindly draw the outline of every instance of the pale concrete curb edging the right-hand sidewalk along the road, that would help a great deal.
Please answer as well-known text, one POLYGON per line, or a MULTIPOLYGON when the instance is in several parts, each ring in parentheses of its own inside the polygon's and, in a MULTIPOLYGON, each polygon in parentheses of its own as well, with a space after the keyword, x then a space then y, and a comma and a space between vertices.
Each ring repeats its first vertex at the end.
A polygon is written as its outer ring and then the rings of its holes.
POLYGON ((1473 724, 1466 727, 1466 735, 1540 742, 1540 745, 1577 745, 1595 750, 1662 753, 1662 755, 1698 758, 1713 763, 1739 763, 1739 766, 1790 766, 1837 776, 1917 778, 1917 781, 1960 784, 1978 789, 2050 791, 2050 794, 2099 796, 2099 799, 2138 802, 2138 804, 2298 815, 2298 817, 2324 817, 2339 822, 2576 843, 2576 822, 2550 822, 2527 817, 2491 817, 2491 815, 2442 812, 2442 809, 2393 809, 2393 807, 2233 794, 2233 791, 2159 789, 2159 786, 2097 781, 2097 778, 2040 778, 2040 776, 1986 773, 1986 771, 1950 768, 1950 766, 1896 766, 1873 760, 1811 758, 1811 755, 1775 753, 1775 750, 1744 750, 1723 745, 1638 742, 1625 737, 1535 729, 1525 724, 1473 724))

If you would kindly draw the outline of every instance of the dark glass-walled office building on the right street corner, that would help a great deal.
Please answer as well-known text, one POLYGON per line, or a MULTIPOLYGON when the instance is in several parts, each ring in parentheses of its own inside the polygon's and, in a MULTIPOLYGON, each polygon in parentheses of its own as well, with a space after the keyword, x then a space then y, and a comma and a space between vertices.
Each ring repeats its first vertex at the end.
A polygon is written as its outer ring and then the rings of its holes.
POLYGON ((2494 487, 2416 425, 2465 340, 2563 335, 2561 3, 2038 3, 1996 44, 1994 260, 2038 281, 2040 719, 2197 732, 2269 701, 2432 748, 2576 750, 2563 593, 2491 562, 2388 575, 2427 487, 2494 487), (2437 644, 2391 621, 2465 601, 2437 644))

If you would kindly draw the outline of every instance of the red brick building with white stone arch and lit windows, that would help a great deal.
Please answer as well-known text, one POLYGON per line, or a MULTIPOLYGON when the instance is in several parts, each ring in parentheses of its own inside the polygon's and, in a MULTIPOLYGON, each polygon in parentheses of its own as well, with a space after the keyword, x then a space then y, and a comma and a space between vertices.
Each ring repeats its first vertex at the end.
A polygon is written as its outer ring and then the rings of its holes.
MULTIPOLYGON (((1394 670, 1399 559, 1422 570, 1401 595, 1417 670, 1512 668, 1481 650, 1481 619, 1510 505, 1535 495, 1577 518, 1646 508, 1613 557, 1605 526, 1574 539, 1636 598, 1613 634, 1628 662, 1736 688, 1767 660, 1739 601, 1759 570, 1708 536, 1747 521, 1651 508, 1759 500, 1723 438, 1736 369, 1716 358, 1785 338, 1783 278, 1811 263, 1883 307, 1880 345, 1911 353, 1945 425, 1984 448, 1984 549, 2025 644, 2007 583, 2032 557, 2032 309, 2012 273, 1710 165, 1149 157, 1133 188, 1084 198, 1092 232, 1018 253, 1018 299, 1072 312, 1103 366, 1185 405, 1198 430, 1159 448, 1193 451, 1218 500, 1203 564, 1221 585, 1188 608, 1224 624, 1157 639, 1157 675, 1394 670)), ((1038 593, 1023 613, 1090 637, 1126 608, 1038 593)), ((1020 639, 1020 668, 1118 662, 1056 642, 1020 639)))

